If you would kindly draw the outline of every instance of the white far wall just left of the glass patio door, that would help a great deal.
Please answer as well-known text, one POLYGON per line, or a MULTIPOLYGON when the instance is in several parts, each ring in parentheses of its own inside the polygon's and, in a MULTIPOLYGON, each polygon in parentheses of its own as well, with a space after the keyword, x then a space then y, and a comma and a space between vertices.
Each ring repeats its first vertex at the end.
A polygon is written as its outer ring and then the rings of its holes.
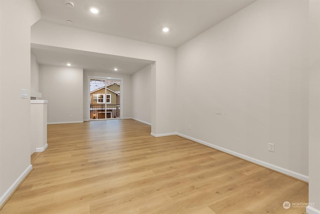
POLYGON ((39 90, 49 124, 83 122, 83 69, 40 64, 39 90))

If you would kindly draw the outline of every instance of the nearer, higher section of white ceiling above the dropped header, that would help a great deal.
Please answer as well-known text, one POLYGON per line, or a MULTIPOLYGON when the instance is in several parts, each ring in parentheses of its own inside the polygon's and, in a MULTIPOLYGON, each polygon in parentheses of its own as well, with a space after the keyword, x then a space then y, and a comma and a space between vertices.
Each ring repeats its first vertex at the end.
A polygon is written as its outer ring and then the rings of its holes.
POLYGON ((64 0, 36 0, 36 4, 44 21, 176 48, 255 0, 70 1, 73 8, 64 0), (90 7, 99 14, 91 14, 90 7), (164 26, 169 33, 161 32, 164 26))

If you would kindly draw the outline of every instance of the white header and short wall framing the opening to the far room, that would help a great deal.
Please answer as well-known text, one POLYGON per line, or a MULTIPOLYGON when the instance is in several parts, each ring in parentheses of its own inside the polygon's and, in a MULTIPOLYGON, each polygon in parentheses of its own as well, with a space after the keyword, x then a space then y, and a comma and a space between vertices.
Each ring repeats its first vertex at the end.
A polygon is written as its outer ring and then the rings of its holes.
POLYGON ((35 46, 53 46, 102 54, 131 57, 155 61, 151 71, 151 132, 154 134, 171 133, 175 131, 174 70, 175 50, 143 43, 139 41, 99 34, 76 28, 65 27, 47 22, 37 22, 31 29, 31 43, 35 46), (72 38, 72 41, 65 40, 72 38), (163 89, 162 85, 167 88, 163 89), (163 102, 166 100, 166 102, 163 102))

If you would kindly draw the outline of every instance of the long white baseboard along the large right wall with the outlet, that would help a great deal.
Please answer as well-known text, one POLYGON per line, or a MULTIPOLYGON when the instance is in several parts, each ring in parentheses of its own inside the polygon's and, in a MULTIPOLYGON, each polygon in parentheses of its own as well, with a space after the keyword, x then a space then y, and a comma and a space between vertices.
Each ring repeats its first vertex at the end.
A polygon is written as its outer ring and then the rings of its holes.
MULTIPOLYGON (((256 164, 261 165, 261 166, 264 166, 264 167, 266 167, 266 168, 269 168, 269 169, 272 169, 272 170, 281 172, 281 173, 286 174, 286 175, 289 175, 289 176, 291 176, 291 177, 295 177, 295 178, 300 179, 300 180, 303 180, 303 181, 305 181, 305 182, 308 182, 308 180, 309 180, 309 177, 306 176, 306 175, 304 175, 304 174, 300 174, 300 173, 291 171, 291 170, 289 170, 289 169, 285 169, 285 168, 282 168, 282 167, 280 167, 280 166, 276 166, 276 165, 273 165, 273 164, 264 162, 264 161, 262 161, 262 160, 255 159, 255 158, 253 158, 253 157, 249 157, 249 156, 246 156, 246 155, 244 155, 244 154, 240 154, 240 153, 231 151, 231 150, 229 150, 229 149, 225 149, 225 148, 222 148, 222 147, 220 147, 220 146, 216 146, 216 145, 213 145, 213 144, 204 142, 204 141, 202 141, 202 140, 198 140, 198 139, 195 139, 195 138, 193 138, 193 137, 186 136, 186 135, 184 135, 184 134, 176 133, 176 135, 178 135, 178 136, 180 136, 180 137, 183 137, 183 138, 186 138, 186 139, 189 139, 189 140, 192 140, 192 141, 194 141, 194 142, 197 142, 197 143, 206 145, 206 146, 208 146, 208 147, 217 149, 217 150, 219 150, 219 151, 223 151, 223 152, 228 153, 228 154, 231 154, 231 155, 233 155, 233 156, 236 156, 236 157, 242 158, 242 159, 244 159, 244 160, 250 161, 250 162, 252 162, 252 163, 256 163, 256 164)), ((152 136, 153 136, 153 135, 152 135, 152 136)))

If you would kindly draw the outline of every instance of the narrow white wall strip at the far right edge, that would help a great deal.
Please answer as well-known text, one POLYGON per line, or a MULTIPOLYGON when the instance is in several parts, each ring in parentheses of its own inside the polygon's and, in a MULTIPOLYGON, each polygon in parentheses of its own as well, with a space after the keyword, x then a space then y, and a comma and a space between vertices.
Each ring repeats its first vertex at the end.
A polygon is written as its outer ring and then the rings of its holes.
MULTIPOLYGON (((320 2, 309 2, 309 202, 320 213, 320 2)), ((309 214, 311 207, 306 210, 309 214)))

